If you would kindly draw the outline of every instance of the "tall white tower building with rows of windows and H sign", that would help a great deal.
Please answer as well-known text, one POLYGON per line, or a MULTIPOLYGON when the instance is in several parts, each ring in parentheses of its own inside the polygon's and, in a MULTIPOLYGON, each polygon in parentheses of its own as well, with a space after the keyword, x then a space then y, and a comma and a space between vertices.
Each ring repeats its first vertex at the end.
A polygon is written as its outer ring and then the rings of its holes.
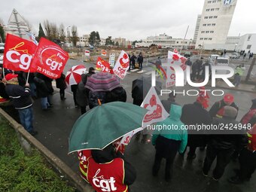
MULTIPOLYGON (((224 49, 236 0, 205 0, 195 48, 224 49)), ((195 36, 194 35, 194 36, 195 36)))

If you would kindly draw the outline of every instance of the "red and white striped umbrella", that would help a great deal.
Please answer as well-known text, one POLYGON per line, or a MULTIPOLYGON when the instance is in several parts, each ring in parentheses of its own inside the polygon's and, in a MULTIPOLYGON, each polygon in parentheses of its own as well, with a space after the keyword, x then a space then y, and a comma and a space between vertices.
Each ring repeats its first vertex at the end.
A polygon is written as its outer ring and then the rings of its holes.
POLYGON ((72 66, 72 68, 66 73, 67 84, 79 84, 81 81, 81 75, 85 73, 85 71, 86 67, 83 65, 72 66))

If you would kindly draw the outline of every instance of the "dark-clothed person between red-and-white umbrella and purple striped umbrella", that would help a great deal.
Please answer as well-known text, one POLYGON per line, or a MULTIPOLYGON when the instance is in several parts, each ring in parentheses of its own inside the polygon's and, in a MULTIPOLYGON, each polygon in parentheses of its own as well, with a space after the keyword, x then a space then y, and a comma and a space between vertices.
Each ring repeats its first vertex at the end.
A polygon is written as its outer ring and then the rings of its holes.
POLYGON ((82 74, 81 75, 81 81, 78 84, 78 90, 76 93, 76 101, 81 108, 81 114, 86 113, 86 108, 87 105, 89 104, 88 102, 88 97, 89 97, 89 91, 85 86, 87 83, 87 78, 90 77, 90 75, 95 74, 95 69, 93 67, 90 67, 89 72, 87 74, 82 74))

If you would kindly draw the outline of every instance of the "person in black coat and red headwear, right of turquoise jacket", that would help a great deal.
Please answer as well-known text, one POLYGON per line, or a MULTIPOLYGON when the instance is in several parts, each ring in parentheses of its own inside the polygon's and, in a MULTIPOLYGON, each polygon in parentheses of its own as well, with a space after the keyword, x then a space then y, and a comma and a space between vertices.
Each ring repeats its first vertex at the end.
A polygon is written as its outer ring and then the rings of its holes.
MULTIPOLYGON (((182 108, 181 121, 187 126, 211 124, 212 117, 205 109, 208 107, 208 98, 209 97, 207 96, 199 96, 197 102, 184 105, 182 108)), ((197 147, 205 147, 208 142, 208 137, 203 130, 187 130, 187 133, 187 146, 190 147, 190 151, 187 154, 187 160, 193 160, 196 158, 195 152, 197 147)))

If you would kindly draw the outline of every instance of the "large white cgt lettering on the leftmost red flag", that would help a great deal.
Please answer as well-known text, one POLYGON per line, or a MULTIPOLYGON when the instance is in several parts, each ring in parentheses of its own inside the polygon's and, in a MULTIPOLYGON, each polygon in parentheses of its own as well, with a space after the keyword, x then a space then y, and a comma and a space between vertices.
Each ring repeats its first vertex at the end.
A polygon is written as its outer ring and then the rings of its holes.
POLYGON ((10 62, 14 62, 14 63, 20 62, 20 65, 19 65, 20 69, 27 70, 29 69, 32 56, 28 54, 20 55, 20 53, 17 52, 16 50, 8 50, 8 52, 6 53, 6 58, 10 62), (14 55, 17 56, 17 59, 14 59, 13 57, 14 55))

